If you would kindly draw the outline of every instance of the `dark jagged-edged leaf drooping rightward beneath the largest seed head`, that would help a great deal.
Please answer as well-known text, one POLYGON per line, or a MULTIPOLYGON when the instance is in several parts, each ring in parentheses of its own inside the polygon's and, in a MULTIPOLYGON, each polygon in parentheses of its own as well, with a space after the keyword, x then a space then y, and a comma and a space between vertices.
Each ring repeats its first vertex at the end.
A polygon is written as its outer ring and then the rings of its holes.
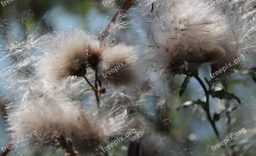
POLYGON ((220 100, 222 100, 222 99, 228 99, 228 100, 235 99, 239 104, 241 104, 241 100, 237 96, 235 96, 235 94, 228 93, 223 89, 220 90, 220 91, 210 90, 209 93, 210 93, 210 95, 212 95, 213 98, 219 98, 220 100))

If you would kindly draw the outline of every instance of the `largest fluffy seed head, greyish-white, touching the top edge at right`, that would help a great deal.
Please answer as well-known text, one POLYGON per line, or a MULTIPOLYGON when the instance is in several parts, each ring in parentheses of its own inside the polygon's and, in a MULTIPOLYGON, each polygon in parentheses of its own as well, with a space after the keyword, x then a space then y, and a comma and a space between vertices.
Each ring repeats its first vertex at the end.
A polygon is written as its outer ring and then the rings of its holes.
POLYGON ((156 66, 169 75, 186 64, 210 63, 214 71, 238 56, 227 18, 204 1, 142 0, 139 8, 156 66))

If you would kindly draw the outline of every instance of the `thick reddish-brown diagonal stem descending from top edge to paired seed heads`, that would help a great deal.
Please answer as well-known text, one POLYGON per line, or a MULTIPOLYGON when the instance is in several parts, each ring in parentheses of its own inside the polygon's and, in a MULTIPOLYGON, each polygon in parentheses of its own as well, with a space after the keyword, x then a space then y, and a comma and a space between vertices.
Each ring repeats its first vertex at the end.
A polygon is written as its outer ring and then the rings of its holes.
POLYGON ((127 12, 127 10, 132 6, 134 0, 124 0, 122 6, 118 9, 114 17, 109 22, 108 26, 100 33, 99 41, 103 42, 105 38, 108 36, 109 30, 111 28, 112 23, 116 22, 117 18, 122 16, 127 12))

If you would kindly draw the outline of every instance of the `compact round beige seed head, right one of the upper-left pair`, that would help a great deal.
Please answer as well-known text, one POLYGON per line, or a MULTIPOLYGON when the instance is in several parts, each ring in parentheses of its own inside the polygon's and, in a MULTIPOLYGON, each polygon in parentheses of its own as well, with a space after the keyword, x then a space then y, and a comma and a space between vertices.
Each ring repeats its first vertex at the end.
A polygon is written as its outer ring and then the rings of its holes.
POLYGON ((139 81, 137 59, 132 46, 118 44, 104 48, 99 64, 100 78, 116 86, 136 83, 139 81))

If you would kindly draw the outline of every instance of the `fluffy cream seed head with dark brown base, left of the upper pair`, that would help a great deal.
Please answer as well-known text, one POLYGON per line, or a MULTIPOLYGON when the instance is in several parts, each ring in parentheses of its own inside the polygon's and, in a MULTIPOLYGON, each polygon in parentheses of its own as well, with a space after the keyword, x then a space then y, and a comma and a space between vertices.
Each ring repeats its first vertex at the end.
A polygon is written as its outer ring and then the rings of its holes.
POLYGON ((75 29, 43 36, 44 56, 38 63, 39 73, 50 81, 70 76, 82 77, 86 67, 94 67, 100 58, 100 42, 84 31, 75 29))

